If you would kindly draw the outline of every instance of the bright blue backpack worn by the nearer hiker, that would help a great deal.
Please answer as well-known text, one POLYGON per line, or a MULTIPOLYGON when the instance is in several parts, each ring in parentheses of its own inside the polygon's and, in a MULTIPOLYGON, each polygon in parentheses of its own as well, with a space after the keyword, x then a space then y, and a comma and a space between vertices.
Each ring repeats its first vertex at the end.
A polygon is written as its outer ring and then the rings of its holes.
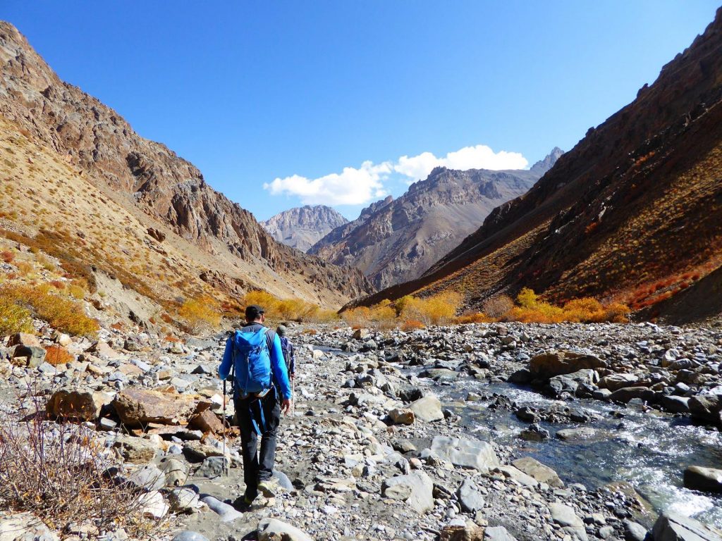
POLYGON ((237 330, 233 335, 235 390, 242 396, 271 388, 271 353, 266 339, 267 330, 266 327, 256 333, 237 330))

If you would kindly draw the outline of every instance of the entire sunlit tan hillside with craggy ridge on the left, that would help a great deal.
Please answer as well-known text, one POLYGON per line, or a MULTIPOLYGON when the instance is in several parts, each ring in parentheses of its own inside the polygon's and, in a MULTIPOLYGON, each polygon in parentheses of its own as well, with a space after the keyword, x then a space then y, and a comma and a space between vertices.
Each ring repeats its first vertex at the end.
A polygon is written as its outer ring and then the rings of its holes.
POLYGON ((251 213, 210 188, 193 164, 142 138, 118 113, 58 79, 6 22, 0 22, 0 65, 1 191, 8 198, 4 209, 14 209, 4 212, 5 229, 54 239, 66 252, 77 252, 75 258, 127 276, 131 286, 134 278, 152 282, 162 299, 178 291, 158 282, 155 271, 146 276, 144 265, 155 261, 144 259, 148 246, 155 253, 162 246, 161 252, 183 260, 160 253, 168 260, 168 280, 186 284, 179 285, 181 292, 201 281, 232 296, 266 289, 332 307, 372 291, 359 271, 274 241, 251 213), (25 208, 23 201, 36 204, 25 208), (134 230, 127 237, 122 220, 134 230), (92 234, 104 226, 116 234, 92 234), (165 240, 149 236, 149 228, 165 240), (84 242, 78 242, 79 232, 84 242))

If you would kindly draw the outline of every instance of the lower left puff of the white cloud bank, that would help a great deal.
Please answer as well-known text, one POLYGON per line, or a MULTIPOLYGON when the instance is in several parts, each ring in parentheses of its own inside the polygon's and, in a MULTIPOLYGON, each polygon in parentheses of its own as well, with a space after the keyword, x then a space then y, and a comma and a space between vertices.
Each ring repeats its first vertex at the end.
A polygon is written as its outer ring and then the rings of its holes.
POLYGON ((344 167, 341 173, 331 173, 310 180, 293 175, 264 183, 271 195, 288 193, 300 197, 304 205, 360 205, 386 195, 383 180, 391 173, 391 164, 374 165, 363 162, 361 167, 344 167))

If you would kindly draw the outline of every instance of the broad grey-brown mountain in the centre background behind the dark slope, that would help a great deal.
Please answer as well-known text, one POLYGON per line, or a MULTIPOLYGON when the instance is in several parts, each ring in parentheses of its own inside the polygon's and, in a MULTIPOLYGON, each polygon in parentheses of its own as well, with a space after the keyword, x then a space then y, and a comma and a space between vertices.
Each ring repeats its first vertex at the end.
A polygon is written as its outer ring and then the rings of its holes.
POLYGON ((495 206, 529 190, 560 155, 535 170, 433 170, 396 201, 387 198, 337 228, 311 250, 336 265, 360 268, 377 288, 408 281, 452 250, 495 206))

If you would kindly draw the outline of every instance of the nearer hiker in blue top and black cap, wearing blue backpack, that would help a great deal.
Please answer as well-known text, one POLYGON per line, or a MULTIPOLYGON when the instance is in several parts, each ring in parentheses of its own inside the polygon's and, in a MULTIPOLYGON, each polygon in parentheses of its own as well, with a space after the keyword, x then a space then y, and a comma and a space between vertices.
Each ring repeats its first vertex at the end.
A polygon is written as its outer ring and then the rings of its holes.
POLYGON ((243 447, 245 493, 233 502, 238 510, 251 507, 260 491, 274 496, 271 477, 281 412, 291 408, 291 386, 277 333, 263 325, 265 310, 257 304, 245 309, 248 323, 226 340, 218 375, 233 377, 233 403, 243 447), (280 401, 280 403, 279 403, 280 401), (258 459, 258 436, 261 457, 258 459))

